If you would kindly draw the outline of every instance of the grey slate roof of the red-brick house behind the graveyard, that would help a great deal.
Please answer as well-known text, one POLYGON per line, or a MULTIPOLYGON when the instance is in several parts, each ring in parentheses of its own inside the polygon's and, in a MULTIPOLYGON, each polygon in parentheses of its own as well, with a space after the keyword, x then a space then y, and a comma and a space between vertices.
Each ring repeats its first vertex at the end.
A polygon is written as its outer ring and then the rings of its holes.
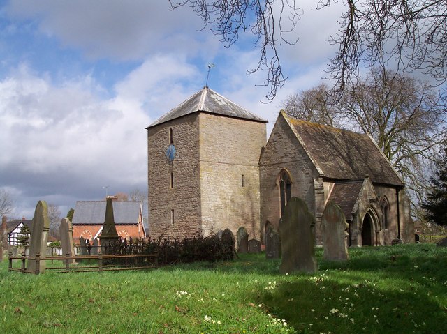
MULTIPOLYGON (((105 201, 78 201, 73 214, 73 225, 103 225, 105 201)), ((140 202, 113 202, 115 224, 138 224, 140 202)))

